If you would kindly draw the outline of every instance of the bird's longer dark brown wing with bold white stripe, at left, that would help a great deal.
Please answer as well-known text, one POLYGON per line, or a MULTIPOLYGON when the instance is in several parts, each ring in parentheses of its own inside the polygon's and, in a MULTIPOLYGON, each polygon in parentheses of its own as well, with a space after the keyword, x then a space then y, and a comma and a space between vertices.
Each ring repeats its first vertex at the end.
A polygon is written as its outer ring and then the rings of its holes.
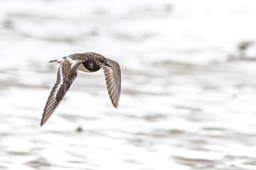
POLYGON ((56 83, 52 91, 50 91, 46 107, 43 110, 41 126, 46 123, 46 120, 55 111, 55 108, 57 108, 60 101, 68 92, 68 89, 70 89, 71 84, 73 84, 73 81, 78 76, 78 66, 81 63, 82 61, 80 60, 71 60, 70 58, 66 58, 60 63, 56 83))

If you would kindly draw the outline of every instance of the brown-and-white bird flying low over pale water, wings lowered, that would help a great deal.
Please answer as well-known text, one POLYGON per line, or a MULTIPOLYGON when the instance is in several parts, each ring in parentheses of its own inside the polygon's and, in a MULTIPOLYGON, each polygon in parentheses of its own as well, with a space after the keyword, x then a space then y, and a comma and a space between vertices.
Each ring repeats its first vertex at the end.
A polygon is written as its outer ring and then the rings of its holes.
POLYGON ((108 94, 112 105, 117 108, 121 94, 121 69, 117 62, 96 52, 75 53, 50 62, 57 62, 60 66, 58 67, 55 85, 50 91, 50 96, 43 110, 41 126, 50 118, 50 115, 53 114, 70 89, 73 81, 78 76, 78 70, 82 72, 97 72, 103 69, 108 94))

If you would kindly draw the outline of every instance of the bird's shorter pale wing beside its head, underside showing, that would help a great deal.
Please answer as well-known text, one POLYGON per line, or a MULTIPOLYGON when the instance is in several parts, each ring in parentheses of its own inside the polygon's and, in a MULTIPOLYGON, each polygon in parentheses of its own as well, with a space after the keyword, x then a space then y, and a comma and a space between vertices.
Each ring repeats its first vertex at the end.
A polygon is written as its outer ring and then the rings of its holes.
POLYGON ((117 62, 110 59, 107 59, 107 62, 111 67, 105 66, 102 69, 105 74, 108 94, 113 106, 117 108, 121 92, 121 70, 117 62))

